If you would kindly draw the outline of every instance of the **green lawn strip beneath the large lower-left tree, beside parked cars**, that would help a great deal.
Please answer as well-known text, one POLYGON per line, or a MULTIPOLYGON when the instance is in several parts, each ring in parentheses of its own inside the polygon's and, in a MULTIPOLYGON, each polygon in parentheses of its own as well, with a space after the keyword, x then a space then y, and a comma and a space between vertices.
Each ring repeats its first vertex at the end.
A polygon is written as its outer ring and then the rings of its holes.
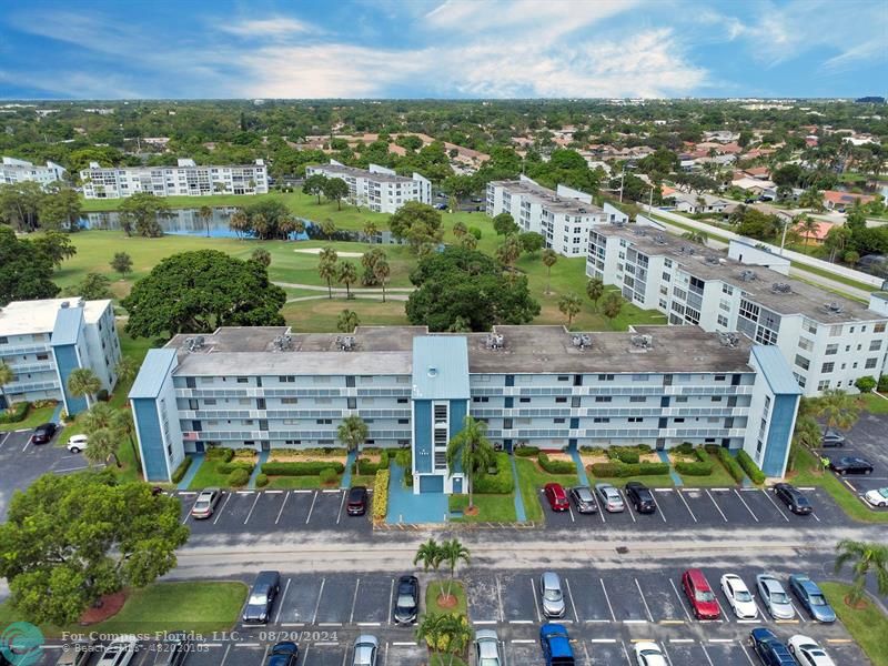
MULTIPOLYGON (((80 625, 41 627, 47 637, 62 632, 148 634, 188 630, 196 633, 230 629, 246 599, 246 585, 231 582, 155 583, 130 593, 120 613, 88 629, 80 625)), ((0 604, 0 626, 21 619, 9 602, 0 604)))

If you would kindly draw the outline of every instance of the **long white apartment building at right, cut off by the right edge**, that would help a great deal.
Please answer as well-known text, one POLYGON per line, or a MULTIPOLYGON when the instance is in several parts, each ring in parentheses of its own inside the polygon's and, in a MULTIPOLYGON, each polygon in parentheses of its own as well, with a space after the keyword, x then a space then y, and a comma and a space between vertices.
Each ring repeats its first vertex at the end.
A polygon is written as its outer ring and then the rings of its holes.
POLYGON ((725 258, 654 229, 608 224, 592 230, 586 274, 618 286, 639 307, 659 310, 670 324, 776 346, 805 395, 855 392, 857 379, 878 377, 888 350, 884 297, 874 294, 866 305, 824 292, 789 278, 779 261, 778 270, 759 265, 761 254, 740 243, 725 258))

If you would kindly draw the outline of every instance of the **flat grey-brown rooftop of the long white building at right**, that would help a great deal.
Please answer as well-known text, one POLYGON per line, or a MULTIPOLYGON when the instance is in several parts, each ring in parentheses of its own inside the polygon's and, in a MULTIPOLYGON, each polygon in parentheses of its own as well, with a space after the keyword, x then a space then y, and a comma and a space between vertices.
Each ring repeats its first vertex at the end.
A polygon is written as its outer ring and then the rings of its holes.
POLYGON ((593 231, 624 238, 648 256, 668 256, 700 280, 719 280, 730 284, 748 294, 750 301, 778 314, 801 314, 827 325, 886 319, 859 301, 824 291, 765 266, 741 263, 718 250, 703 248, 650 228, 602 224, 593 231), (788 285, 788 291, 778 291, 775 285, 788 285))

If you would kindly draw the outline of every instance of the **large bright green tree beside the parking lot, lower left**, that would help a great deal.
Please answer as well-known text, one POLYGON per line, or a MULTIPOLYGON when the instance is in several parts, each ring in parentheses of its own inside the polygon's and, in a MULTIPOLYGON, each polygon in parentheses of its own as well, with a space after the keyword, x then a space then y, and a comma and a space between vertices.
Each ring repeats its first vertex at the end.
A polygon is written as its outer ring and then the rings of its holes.
POLYGON ((175 567, 189 529, 179 500, 109 473, 44 474, 10 500, 0 576, 18 617, 64 626, 102 596, 175 567))

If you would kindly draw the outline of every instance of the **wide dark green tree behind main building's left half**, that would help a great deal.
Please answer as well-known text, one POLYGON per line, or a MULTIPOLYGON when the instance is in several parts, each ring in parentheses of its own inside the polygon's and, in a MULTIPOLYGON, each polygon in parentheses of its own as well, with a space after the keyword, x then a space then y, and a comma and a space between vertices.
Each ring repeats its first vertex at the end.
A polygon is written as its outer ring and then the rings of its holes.
POLYGON ((138 337, 209 333, 219 326, 281 326, 286 292, 265 266, 218 250, 168 256, 121 304, 127 332, 138 337))

